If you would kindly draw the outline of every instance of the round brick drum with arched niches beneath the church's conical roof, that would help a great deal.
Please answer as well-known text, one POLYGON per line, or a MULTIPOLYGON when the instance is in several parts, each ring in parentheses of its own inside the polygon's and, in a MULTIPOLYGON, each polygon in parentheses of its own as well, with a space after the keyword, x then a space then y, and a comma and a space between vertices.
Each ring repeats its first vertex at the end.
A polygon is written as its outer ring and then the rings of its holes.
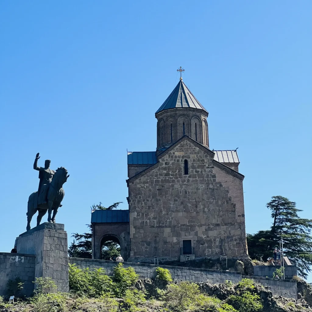
POLYGON ((185 134, 196 140, 195 123, 197 129, 197 142, 209 146, 207 112, 194 108, 174 108, 162 110, 157 118, 157 149, 168 147, 183 137, 183 122, 185 134), (172 124, 172 142, 171 126, 172 124))

